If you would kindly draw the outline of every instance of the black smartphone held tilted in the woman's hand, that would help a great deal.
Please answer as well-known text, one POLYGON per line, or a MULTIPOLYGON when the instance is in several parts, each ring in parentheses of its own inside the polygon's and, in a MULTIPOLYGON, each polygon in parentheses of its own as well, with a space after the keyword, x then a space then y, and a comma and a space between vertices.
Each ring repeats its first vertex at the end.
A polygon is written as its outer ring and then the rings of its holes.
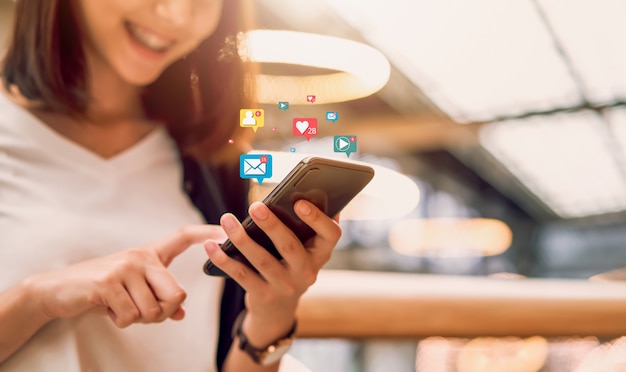
MULTIPOLYGON (((372 177, 374 177, 374 169, 366 165, 308 157, 300 161, 287 174, 263 200, 263 203, 296 234, 300 241, 305 242, 312 238, 315 232, 295 214, 293 205, 296 201, 306 199, 326 215, 333 217, 371 181, 372 177)), ((243 220, 242 225, 255 242, 277 259, 282 259, 270 238, 252 221, 250 216, 243 220)), ((230 240, 226 240, 221 248, 228 256, 254 270, 254 267, 230 240)), ((213 265, 211 260, 205 263, 204 272, 207 275, 227 276, 213 265)))

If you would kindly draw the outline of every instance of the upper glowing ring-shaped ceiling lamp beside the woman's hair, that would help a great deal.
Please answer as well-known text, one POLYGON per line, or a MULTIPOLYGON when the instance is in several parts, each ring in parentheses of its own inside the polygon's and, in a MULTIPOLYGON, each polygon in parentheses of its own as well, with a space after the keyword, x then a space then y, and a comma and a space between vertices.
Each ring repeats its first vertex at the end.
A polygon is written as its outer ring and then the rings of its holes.
POLYGON ((389 80, 387 58, 369 45, 333 36, 285 30, 252 30, 240 39, 239 56, 256 63, 281 63, 333 70, 316 75, 261 74, 257 101, 307 104, 350 101, 369 96, 389 80))

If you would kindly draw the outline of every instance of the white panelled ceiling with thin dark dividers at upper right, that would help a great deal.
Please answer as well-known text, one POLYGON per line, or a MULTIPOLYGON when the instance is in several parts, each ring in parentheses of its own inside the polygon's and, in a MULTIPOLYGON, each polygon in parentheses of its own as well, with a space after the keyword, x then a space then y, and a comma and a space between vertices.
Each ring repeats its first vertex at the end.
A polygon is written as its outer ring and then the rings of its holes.
MULTIPOLYGON (((275 12, 285 6, 262 2, 275 12)), ((551 213, 568 219, 626 210, 626 2, 324 3, 329 19, 338 15, 381 50, 459 126, 480 123, 473 155, 495 158, 551 213)), ((305 8, 309 27, 323 19, 311 15, 320 5, 305 8)), ((328 32, 323 26, 318 32, 328 32)))

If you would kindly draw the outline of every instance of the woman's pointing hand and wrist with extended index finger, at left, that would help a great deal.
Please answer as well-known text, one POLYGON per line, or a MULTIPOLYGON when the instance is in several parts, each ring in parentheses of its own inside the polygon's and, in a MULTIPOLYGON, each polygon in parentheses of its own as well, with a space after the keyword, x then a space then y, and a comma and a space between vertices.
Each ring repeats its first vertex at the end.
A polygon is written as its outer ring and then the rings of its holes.
POLYGON ((189 246, 209 239, 223 241, 226 234, 220 226, 187 226, 153 244, 36 274, 25 284, 49 320, 88 311, 108 312, 120 328, 180 320, 186 293, 167 267, 189 246))

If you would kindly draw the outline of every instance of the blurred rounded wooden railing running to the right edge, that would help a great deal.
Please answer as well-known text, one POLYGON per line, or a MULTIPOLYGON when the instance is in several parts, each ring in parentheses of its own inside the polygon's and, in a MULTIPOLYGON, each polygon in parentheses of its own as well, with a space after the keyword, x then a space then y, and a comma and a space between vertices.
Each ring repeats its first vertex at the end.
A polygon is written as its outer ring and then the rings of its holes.
POLYGON ((322 270, 299 337, 626 335, 626 282, 322 270))

